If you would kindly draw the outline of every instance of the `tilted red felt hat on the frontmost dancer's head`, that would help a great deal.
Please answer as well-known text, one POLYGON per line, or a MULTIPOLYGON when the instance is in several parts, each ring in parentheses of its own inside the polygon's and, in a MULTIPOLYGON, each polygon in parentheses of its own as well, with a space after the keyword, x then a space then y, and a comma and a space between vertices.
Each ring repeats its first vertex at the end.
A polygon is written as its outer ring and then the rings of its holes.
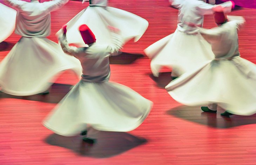
POLYGON ((85 44, 90 44, 96 42, 95 35, 93 34, 92 30, 85 24, 79 27, 79 31, 81 33, 83 42, 85 44))

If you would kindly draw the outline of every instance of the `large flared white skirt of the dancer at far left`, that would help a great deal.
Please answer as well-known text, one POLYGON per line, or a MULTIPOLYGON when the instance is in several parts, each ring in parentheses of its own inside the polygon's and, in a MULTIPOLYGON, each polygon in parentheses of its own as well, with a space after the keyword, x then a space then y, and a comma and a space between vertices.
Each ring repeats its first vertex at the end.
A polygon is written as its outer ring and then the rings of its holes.
POLYGON ((0 63, 0 87, 7 94, 28 96, 47 90, 56 74, 72 69, 80 77, 81 63, 46 38, 21 39, 0 63))

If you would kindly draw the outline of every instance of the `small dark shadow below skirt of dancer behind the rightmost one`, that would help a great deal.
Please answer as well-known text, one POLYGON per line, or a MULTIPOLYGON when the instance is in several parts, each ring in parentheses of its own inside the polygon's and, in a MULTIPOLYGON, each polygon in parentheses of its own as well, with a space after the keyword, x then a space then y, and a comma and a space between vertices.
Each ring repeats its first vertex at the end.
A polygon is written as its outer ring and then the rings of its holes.
POLYGON ((149 77, 156 82, 156 86, 160 88, 164 88, 167 84, 172 81, 171 72, 163 72, 160 73, 158 77, 153 76, 153 74, 149 74, 149 77))

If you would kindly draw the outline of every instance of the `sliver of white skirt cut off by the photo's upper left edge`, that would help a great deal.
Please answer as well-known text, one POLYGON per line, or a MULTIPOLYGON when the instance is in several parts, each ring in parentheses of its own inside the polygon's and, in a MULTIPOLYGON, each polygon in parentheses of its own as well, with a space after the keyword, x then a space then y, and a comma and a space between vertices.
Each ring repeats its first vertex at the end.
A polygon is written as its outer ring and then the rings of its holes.
POLYGON ((16 11, 0 3, 0 43, 14 31, 16 11))

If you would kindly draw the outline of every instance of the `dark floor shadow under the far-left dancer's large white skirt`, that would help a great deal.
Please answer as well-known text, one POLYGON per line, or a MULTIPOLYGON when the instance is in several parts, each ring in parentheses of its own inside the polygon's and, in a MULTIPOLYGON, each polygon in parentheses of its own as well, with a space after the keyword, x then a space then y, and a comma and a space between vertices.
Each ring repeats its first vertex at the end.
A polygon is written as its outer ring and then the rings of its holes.
POLYGON ((72 85, 69 84, 54 83, 52 84, 52 87, 50 87, 49 94, 47 95, 37 94, 32 96, 14 96, 0 91, 0 98, 16 98, 47 103, 59 103, 71 88, 72 85))

